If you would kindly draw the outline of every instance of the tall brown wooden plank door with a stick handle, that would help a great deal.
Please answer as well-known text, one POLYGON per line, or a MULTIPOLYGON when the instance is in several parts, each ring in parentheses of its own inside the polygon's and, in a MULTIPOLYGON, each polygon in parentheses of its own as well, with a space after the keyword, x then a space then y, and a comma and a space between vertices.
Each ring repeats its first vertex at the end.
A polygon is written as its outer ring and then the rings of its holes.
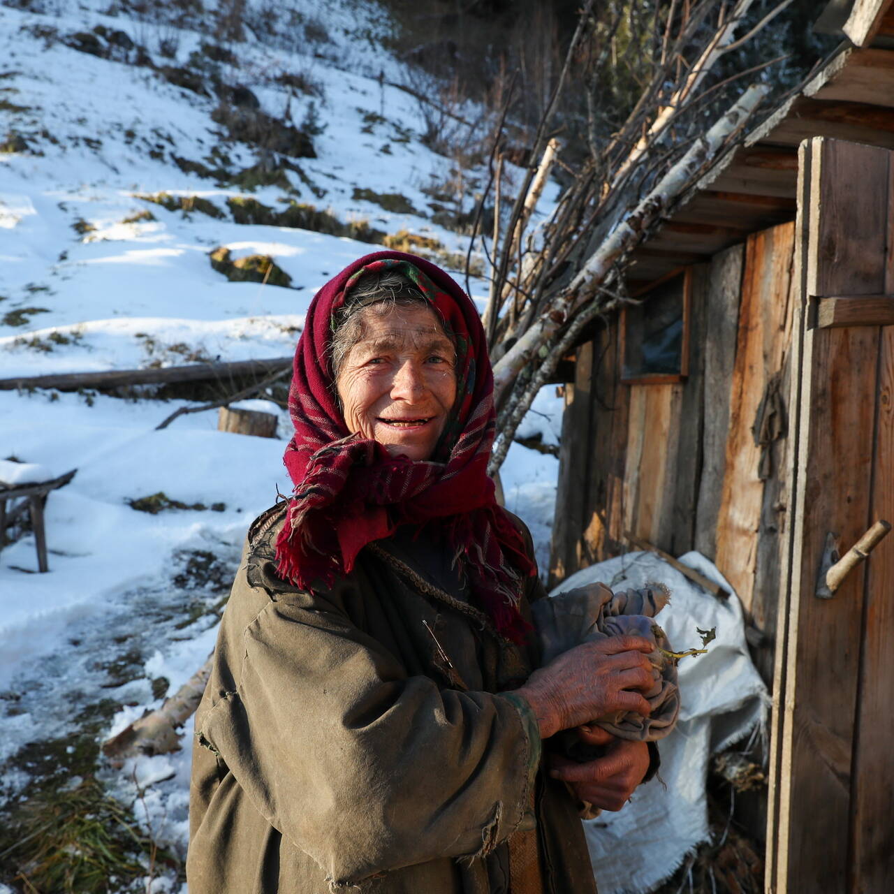
POLYGON ((800 149, 766 888, 894 891, 894 536, 831 598, 830 533, 848 550, 894 522, 894 153, 800 149))

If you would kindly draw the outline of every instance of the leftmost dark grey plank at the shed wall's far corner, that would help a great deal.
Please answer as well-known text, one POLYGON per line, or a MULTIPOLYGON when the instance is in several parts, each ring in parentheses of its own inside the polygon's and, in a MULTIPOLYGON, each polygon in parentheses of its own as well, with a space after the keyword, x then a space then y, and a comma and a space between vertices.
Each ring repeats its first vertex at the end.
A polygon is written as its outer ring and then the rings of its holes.
POLYGON ((555 586, 578 570, 578 544, 584 528, 592 371, 593 343, 586 342, 578 349, 574 384, 565 385, 559 480, 552 525, 550 586, 555 586))

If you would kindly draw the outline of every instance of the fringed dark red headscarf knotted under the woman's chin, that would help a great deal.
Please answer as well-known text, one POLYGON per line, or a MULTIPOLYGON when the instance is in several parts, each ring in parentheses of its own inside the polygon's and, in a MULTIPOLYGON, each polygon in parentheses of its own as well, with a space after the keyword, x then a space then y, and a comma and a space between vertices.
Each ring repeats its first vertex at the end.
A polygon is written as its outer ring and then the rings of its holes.
POLYGON ((493 375, 477 309, 439 267, 401 251, 361 257, 316 293, 295 351, 289 411, 295 434, 283 461, 295 483, 276 543, 279 573, 297 586, 331 585, 358 552, 402 523, 441 519, 465 563, 473 596, 504 637, 522 642, 521 577, 533 574, 519 531, 494 499, 493 375), (350 434, 336 399, 333 314, 361 274, 409 277, 456 342, 457 398, 432 460, 392 457, 350 434))

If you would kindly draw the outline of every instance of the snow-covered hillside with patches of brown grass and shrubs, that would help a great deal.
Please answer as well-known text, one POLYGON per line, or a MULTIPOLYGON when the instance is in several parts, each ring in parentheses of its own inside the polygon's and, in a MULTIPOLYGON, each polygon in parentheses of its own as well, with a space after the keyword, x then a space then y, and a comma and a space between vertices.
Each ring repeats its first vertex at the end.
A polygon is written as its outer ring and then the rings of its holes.
MULTIPOLYGON (((0 380, 289 356, 316 289, 383 245, 464 283, 482 172, 434 151, 437 116, 384 49, 384 11, 223 12, 0 4, 0 380), (266 281, 230 281, 249 256, 266 281)), ((485 281, 470 286, 480 304, 485 281)), ((289 490, 282 409, 266 404, 278 440, 218 432, 216 410, 156 430, 196 402, 0 390, 0 460, 77 469, 46 505, 49 573, 27 531, 0 552, 0 826, 17 801, 98 773, 167 849, 146 864, 154 891, 180 890, 190 730, 181 753, 124 772, 96 743, 204 661, 246 528, 289 490)), ((557 443, 560 414, 544 389, 522 434, 557 443)), ((556 465, 514 445, 502 471, 542 564, 556 465)), ((0 882, 19 890, 15 859, 0 882)))

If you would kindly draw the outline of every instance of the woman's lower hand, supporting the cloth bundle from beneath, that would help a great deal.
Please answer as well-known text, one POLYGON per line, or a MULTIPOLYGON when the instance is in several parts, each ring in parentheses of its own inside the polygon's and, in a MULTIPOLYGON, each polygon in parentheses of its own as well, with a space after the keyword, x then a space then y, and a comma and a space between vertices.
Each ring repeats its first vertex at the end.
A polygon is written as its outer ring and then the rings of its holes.
POLYGON ((588 763, 550 755, 550 775, 568 782, 578 800, 602 810, 620 810, 649 769, 649 746, 615 738, 599 727, 584 727, 578 735, 590 745, 606 746, 605 755, 588 763))

